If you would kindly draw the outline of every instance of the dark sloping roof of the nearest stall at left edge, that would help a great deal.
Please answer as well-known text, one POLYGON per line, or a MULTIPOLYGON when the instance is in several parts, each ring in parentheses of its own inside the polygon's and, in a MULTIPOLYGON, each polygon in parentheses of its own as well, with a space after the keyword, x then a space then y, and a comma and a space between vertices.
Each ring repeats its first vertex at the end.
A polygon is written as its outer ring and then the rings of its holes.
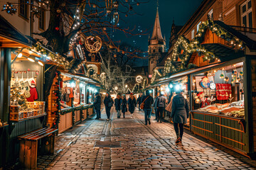
POLYGON ((0 47, 29 47, 30 41, 26 35, 19 33, 11 23, 0 15, 0 47))

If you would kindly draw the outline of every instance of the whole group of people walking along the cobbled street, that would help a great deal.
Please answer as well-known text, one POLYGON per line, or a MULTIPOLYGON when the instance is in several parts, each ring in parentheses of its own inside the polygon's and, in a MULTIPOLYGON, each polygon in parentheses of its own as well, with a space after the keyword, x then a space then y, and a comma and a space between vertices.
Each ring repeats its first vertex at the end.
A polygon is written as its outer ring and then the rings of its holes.
MULTIPOLYGON (((99 93, 95 94, 95 100, 93 102, 96 119, 101 118, 101 96, 99 93)), ((176 132, 177 140, 176 143, 182 142, 183 137, 183 125, 187 123, 187 118, 189 114, 188 101, 184 98, 182 90, 176 91, 175 94, 167 100, 164 93, 161 92, 159 96, 153 98, 149 91, 146 91, 145 94, 139 94, 139 97, 136 99, 134 94, 129 94, 127 100, 125 94, 117 94, 116 98, 111 98, 110 94, 105 95, 104 101, 105 111, 107 114, 107 120, 110 120, 110 110, 114 106, 115 111, 117 112, 117 118, 125 118, 125 113, 129 111, 131 118, 134 118, 135 108, 138 106, 139 111, 144 111, 145 125, 151 125, 151 112, 152 108, 155 111, 156 122, 162 123, 164 120, 164 112, 169 113, 169 117, 174 123, 174 130, 176 132), (127 108, 128 107, 128 108, 127 108)))

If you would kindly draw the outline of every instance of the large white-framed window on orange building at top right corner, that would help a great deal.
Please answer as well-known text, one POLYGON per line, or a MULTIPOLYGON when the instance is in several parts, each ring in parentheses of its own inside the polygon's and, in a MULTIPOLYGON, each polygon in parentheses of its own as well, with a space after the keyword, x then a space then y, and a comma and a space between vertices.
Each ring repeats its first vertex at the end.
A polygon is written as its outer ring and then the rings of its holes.
POLYGON ((252 1, 247 0, 240 6, 241 26, 252 28, 252 1))

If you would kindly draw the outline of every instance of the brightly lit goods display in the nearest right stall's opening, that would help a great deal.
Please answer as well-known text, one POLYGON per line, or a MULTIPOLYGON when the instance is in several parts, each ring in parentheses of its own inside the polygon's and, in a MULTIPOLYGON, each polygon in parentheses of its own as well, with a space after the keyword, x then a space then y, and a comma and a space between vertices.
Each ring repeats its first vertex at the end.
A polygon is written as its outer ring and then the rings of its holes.
POLYGON ((193 111, 244 118, 242 66, 240 62, 195 75, 193 111))

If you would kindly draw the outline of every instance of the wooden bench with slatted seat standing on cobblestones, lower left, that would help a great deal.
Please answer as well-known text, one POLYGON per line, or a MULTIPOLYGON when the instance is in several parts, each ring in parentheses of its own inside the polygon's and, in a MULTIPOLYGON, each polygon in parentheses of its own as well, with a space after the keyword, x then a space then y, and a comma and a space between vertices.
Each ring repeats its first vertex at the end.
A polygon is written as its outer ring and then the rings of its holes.
POLYGON ((41 153, 53 154, 55 132, 58 129, 40 128, 18 137, 20 140, 19 159, 26 169, 36 169, 38 140, 41 140, 41 153))

